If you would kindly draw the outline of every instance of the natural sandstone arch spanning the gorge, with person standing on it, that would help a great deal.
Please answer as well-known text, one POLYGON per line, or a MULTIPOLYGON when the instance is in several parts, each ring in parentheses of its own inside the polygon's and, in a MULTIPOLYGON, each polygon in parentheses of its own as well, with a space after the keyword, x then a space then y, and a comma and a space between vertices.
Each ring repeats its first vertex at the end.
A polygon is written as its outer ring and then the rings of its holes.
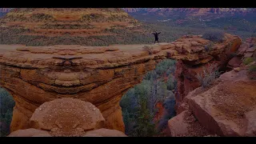
POLYGON ((201 36, 155 45, 153 54, 143 50, 142 45, 14 46, 14 50, 3 50, 1 86, 13 94, 16 102, 11 131, 29 128, 34 110, 55 98, 91 102, 101 110, 106 128, 124 131, 119 101, 127 90, 142 81, 147 71, 154 70, 164 58, 189 65, 218 60, 230 46, 233 50, 241 44, 237 36, 226 34, 225 38, 210 52, 203 47, 209 40, 201 36))

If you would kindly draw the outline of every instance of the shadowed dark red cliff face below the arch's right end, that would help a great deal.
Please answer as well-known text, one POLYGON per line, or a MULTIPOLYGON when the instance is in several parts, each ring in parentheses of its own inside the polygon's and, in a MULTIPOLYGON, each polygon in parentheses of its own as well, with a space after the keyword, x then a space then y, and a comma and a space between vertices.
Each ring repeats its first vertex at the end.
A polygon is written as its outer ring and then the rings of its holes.
MULTIPOLYGON (((179 61, 176 66, 175 77, 178 80, 178 91, 175 94, 176 108, 186 97, 186 95, 200 86, 196 74, 202 71, 202 66, 194 66, 195 64, 216 64, 220 70, 226 71, 227 62, 231 58, 231 54, 236 52, 239 46, 242 44, 241 39, 234 39, 229 43, 229 47, 225 48, 225 45, 219 45, 217 50, 213 50, 210 54, 198 54, 198 58, 202 58, 199 62, 193 61, 179 61), (221 50, 221 51, 218 51, 221 50)), ((198 48, 197 46, 195 46, 198 48)), ((196 50, 191 48, 191 50, 196 50)), ((182 107, 181 107, 182 108, 182 107)), ((179 113, 179 110, 177 111, 179 113)))

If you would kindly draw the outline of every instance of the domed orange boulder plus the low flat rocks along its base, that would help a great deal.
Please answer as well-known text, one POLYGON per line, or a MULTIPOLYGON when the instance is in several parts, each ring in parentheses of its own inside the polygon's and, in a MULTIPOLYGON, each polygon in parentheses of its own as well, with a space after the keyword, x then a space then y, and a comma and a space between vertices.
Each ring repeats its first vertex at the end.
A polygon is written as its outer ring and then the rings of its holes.
POLYGON ((30 129, 17 130, 9 137, 126 137, 118 130, 104 129, 101 112, 90 102, 58 98, 39 106, 30 118, 30 129))

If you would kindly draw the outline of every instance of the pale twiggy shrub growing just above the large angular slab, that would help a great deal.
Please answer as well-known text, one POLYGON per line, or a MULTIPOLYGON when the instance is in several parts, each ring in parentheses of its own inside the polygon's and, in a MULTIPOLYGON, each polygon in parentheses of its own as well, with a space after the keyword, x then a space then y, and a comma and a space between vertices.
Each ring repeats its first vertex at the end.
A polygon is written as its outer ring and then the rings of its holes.
POLYGON ((211 64, 210 66, 204 66, 202 68, 202 73, 198 73, 196 77, 202 87, 207 87, 210 86, 219 75, 218 67, 211 64))

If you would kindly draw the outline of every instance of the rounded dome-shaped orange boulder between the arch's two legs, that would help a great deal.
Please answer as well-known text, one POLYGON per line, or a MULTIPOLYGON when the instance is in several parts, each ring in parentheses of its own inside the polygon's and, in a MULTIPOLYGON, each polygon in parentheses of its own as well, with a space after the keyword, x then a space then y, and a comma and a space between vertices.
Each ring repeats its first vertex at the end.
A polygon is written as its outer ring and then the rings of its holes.
POLYGON ((30 118, 30 126, 49 130, 54 136, 79 136, 103 127, 100 110, 90 102, 58 98, 39 106, 30 118))

